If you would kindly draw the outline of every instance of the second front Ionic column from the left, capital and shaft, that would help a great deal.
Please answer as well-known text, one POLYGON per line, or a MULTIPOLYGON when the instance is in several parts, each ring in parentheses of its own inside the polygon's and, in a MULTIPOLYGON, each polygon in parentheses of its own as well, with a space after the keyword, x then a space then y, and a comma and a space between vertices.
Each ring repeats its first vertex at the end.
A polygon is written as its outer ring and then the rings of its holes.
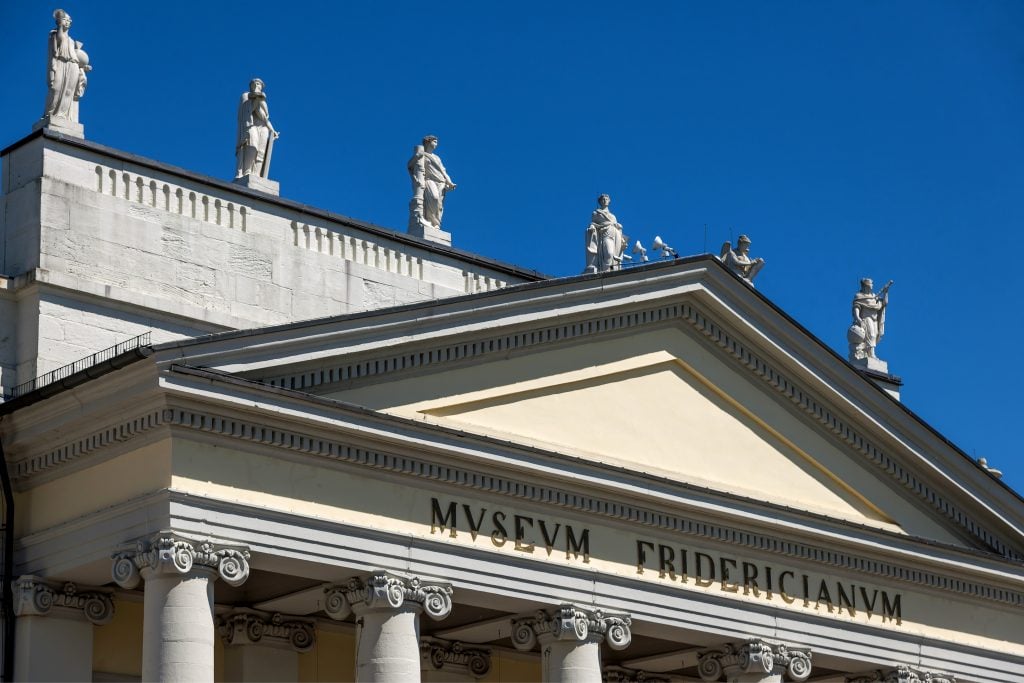
POLYGON ((356 616, 358 683, 408 683, 420 680, 420 612, 447 616, 452 587, 381 570, 327 589, 325 605, 332 618, 356 616))

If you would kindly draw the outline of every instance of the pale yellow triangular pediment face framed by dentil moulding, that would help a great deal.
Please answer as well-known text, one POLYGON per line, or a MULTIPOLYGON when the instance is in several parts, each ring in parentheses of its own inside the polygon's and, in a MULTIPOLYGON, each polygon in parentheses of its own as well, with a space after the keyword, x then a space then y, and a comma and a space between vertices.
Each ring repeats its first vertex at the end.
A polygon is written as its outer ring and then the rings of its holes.
POLYGON ((396 415, 964 545, 676 327, 332 394, 396 415), (403 402, 395 403, 395 397, 403 402))

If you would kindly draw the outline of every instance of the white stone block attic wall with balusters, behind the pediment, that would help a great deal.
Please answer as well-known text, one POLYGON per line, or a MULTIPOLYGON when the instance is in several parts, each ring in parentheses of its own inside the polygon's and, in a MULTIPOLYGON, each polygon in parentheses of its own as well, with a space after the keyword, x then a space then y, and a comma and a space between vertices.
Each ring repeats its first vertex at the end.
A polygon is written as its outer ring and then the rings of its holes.
POLYGON ((3 190, 5 391, 11 374, 26 382, 141 332, 160 342, 537 279, 51 134, 3 153, 3 190))

